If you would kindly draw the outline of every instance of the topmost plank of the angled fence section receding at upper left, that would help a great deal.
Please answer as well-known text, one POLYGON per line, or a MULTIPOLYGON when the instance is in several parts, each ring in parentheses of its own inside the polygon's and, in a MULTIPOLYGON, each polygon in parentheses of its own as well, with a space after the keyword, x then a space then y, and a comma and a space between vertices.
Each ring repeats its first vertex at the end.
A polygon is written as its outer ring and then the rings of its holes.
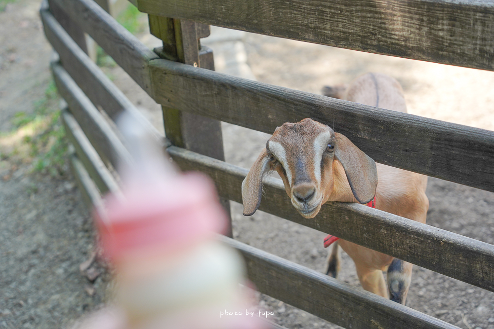
POLYGON ((158 56, 92 0, 52 0, 89 34, 146 92, 147 63, 158 56))

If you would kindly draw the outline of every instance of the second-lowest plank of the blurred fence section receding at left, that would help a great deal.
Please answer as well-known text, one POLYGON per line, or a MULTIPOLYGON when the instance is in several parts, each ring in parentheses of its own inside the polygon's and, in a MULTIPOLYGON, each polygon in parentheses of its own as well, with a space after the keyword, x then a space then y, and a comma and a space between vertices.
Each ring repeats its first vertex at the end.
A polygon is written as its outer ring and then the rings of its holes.
POLYGON ((98 186, 101 194, 107 192, 114 194, 120 193, 117 182, 108 168, 106 168, 103 160, 101 160, 86 135, 82 132, 81 126, 77 123, 74 116, 68 109, 64 109, 62 110, 61 118, 65 127, 65 133, 74 146, 78 158, 81 160, 91 179, 98 186))

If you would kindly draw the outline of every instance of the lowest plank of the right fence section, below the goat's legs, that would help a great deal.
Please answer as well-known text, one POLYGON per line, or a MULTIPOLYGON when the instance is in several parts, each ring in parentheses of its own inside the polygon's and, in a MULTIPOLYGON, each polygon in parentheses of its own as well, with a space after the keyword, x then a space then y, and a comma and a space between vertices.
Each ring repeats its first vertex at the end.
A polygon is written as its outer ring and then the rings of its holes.
POLYGON ((458 328, 412 308, 352 287, 278 256, 220 237, 239 250, 247 262, 248 278, 263 293, 352 329, 458 328))

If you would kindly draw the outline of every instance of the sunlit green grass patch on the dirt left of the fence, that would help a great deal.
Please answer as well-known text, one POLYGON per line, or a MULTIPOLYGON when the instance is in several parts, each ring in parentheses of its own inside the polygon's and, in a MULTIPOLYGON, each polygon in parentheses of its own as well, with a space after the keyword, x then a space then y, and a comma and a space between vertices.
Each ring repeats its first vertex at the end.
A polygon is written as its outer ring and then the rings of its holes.
POLYGON ((32 114, 17 113, 12 119, 16 127, 0 136, 1 157, 18 163, 31 163, 33 171, 60 177, 65 172, 68 145, 60 122, 60 111, 55 110, 59 97, 51 81, 44 97, 33 104, 32 114))

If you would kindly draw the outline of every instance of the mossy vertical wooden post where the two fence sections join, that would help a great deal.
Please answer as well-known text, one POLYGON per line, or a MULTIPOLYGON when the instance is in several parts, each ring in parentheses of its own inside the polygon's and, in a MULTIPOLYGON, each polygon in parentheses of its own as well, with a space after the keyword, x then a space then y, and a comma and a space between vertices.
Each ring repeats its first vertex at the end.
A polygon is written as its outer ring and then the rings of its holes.
MULTIPOLYGON (((209 35, 208 26, 154 15, 149 15, 149 26, 151 34, 163 40, 163 48, 159 51, 161 57, 214 70, 211 50, 201 47, 199 41, 199 38, 209 35)), ((165 134, 174 146, 225 160, 220 121, 165 106, 162 108, 165 134)), ((220 201, 230 217, 230 201, 220 201)), ((232 236, 231 219, 226 235, 232 236)))

